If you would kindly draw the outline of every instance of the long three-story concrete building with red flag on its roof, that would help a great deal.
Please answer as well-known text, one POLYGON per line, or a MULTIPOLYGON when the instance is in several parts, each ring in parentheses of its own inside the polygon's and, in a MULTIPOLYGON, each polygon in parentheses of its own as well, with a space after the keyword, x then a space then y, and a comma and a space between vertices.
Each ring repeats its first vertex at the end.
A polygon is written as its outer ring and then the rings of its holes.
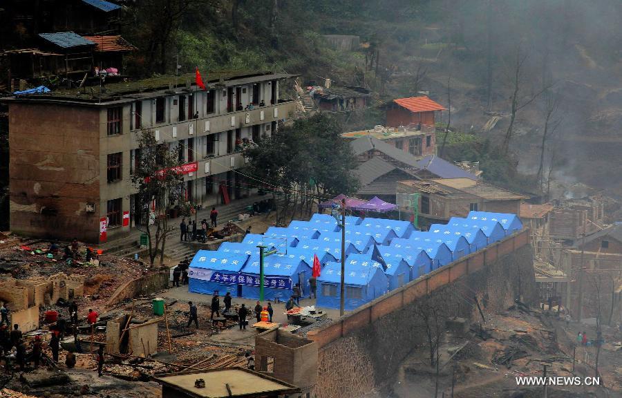
POLYGON ((10 227, 28 236, 108 239, 147 220, 131 182, 138 131, 179 148, 187 201, 202 206, 247 196, 257 182, 240 142, 259 142, 295 109, 279 97, 294 75, 194 75, 9 97, 10 227))

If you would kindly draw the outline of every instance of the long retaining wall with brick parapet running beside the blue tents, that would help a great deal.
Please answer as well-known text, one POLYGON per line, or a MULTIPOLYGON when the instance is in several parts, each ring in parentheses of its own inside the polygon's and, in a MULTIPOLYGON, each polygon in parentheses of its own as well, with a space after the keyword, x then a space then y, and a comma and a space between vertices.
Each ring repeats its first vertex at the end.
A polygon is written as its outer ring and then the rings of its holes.
POLYGON ((319 398, 355 398, 393 377, 424 335, 415 305, 431 300, 448 316, 479 317, 473 296, 486 311, 505 310, 518 298, 536 303, 529 231, 422 276, 359 307, 321 330, 308 333, 319 346, 319 398))

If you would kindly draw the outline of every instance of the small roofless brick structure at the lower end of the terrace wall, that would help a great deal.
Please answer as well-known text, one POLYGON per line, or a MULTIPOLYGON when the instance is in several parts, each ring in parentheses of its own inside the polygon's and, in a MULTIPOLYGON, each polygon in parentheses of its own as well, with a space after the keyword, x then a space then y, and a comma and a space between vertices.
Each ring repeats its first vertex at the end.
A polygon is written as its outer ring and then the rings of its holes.
POLYGON ((257 370, 293 384, 305 394, 317 382, 317 345, 273 328, 255 337, 257 370))

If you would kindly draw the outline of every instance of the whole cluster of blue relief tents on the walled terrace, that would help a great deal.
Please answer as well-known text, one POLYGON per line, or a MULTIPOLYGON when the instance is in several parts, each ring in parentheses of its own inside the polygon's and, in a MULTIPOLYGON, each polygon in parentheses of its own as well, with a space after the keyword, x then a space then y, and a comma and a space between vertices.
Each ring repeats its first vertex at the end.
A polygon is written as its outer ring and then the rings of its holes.
MULTIPOLYGON (((418 231, 408 221, 346 217, 345 303, 353 310, 386 292, 522 229, 514 214, 471 211, 447 224, 418 231)), ((328 214, 265 234, 247 234, 241 243, 225 242, 216 251, 200 250, 190 264, 190 292, 258 299, 259 249, 274 250, 264 258, 265 299, 286 300, 299 284, 310 294, 314 256, 321 263, 317 278, 319 307, 339 308, 341 227, 328 214)))

